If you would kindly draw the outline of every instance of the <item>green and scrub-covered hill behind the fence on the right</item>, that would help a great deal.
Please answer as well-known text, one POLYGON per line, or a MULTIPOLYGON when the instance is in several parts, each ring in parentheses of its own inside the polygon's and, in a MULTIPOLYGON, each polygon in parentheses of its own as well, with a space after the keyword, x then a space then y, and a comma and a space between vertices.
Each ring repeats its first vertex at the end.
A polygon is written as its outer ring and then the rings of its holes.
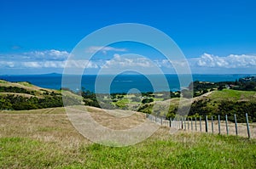
POLYGON ((184 104, 180 108, 186 110, 190 107, 189 116, 213 115, 217 119, 218 115, 222 115, 224 118, 224 115, 227 114, 230 116, 230 121, 234 121, 234 114, 236 114, 238 122, 245 122, 244 117, 247 113, 249 121, 256 122, 256 91, 214 90, 193 99, 173 98, 143 104, 140 111, 167 118, 174 117, 179 101, 192 102, 191 107, 184 104), (166 114, 166 112, 168 113, 166 114))

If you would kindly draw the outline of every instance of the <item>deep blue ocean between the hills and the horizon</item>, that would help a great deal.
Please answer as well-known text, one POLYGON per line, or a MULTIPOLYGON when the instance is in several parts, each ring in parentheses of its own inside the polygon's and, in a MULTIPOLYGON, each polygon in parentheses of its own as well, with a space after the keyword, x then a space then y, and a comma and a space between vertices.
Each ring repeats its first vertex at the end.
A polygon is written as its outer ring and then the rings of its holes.
MULTIPOLYGON (((183 75, 187 76, 187 75, 183 75)), ((236 81, 241 77, 252 76, 242 74, 227 75, 192 75, 193 81, 201 82, 230 82, 236 81)), ((9 82, 31 82, 38 87, 60 89, 62 82, 61 74, 47 75, 22 75, 22 76, 0 76, 0 79, 9 82)), ((166 83, 161 80, 159 75, 119 75, 119 76, 96 76, 84 75, 78 82, 78 76, 70 76, 62 87, 68 87, 73 91, 79 89, 90 90, 95 93, 137 93, 140 92, 162 92, 177 91, 182 87, 188 87, 189 81, 180 85, 177 75, 165 75, 166 83), (111 82, 109 79, 113 78, 111 82), (96 81, 101 79, 101 82, 96 81), (132 90, 131 90, 132 89, 132 90)))

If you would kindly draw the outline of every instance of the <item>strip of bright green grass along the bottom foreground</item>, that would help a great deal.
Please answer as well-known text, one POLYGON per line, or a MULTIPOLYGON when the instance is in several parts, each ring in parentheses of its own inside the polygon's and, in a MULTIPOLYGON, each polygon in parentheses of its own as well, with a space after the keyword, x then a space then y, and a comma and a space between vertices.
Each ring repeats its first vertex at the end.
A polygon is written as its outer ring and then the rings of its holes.
POLYGON ((179 133, 129 147, 59 146, 31 138, 0 138, 1 168, 255 168, 256 142, 179 133))

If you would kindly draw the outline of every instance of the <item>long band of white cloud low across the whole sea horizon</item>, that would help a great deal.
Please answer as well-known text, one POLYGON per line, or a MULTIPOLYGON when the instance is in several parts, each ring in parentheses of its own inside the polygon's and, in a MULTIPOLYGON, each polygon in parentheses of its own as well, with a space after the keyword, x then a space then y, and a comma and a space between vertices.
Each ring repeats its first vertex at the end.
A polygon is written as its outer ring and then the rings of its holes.
MULTIPOLYGON (((101 51, 127 51, 125 48, 101 48, 91 47, 90 52, 100 49, 101 51)), ((111 59, 94 59, 94 60, 68 60, 70 54, 67 51, 45 50, 32 51, 21 54, 0 54, 0 69, 4 74, 5 70, 26 70, 32 69, 64 69, 79 68, 97 70, 104 69, 111 73, 111 70, 148 70, 153 72, 158 67, 166 73, 175 73, 175 69, 182 70, 189 63, 190 69, 195 73, 247 73, 256 71, 256 54, 230 54, 228 56, 217 56, 214 54, 202 54, 198 58, 189 58, 188 60, 168 59, 150 59, 134 55, 113 54, 111 59)))

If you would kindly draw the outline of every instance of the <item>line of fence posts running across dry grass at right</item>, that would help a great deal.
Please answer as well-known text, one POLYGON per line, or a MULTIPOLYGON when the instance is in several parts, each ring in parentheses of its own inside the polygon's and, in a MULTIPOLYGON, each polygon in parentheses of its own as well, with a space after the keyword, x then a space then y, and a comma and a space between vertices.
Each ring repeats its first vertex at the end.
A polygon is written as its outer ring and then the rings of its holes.
MULTIPOLYGON (((234 134, 236 136, 245 136, 247 135, 247 138, 251 138, 251 132, 250 132, 250 126, 248 121, 248 115, 245 115, 246 120, 246 126, 244 123, 237 123, 236 121, 236 114, 234 115, 234 121, 235 125, 231 123, 228 119, 228 115, 224 116, 224 122, 221 121, 220 115, 218 115, 218 120, 214 121, 214 117, 211 115, 211 125, 210 128, 208 126, 208 117, 207 115, 204 116, 205 121, 202 121, 203 116, 199 116, 199 130, 198 130, 198 122, 196 117, 188 117, 188 116, 179 116, 174 117, 166 120, 164 117, 158 117, 157 115, 149 115, 146 114, 146 118, 149 121, 154 121, 155 123, 159 124, 160 126, 166 126, 166 127, 174 127, 177 129, 183 129, 183 130, 189 130, 189 131, 199 131, 199 132, 209 132, 209 130, 212 130, 212 133, 225 133, 227 135, 234 134), (202 126, 205 126, 205 131, 202 130, 202 126), (214 126, 218 127, 214 127, 214 126), (247 133, 245 133, 247 131, 247 133)), ((254 132, 253 132, 254 133, 254 132)), ((256 136, 256 133, 254 133, 256 136)), ((254 136, 254 137, 255 137, 254 136)))

